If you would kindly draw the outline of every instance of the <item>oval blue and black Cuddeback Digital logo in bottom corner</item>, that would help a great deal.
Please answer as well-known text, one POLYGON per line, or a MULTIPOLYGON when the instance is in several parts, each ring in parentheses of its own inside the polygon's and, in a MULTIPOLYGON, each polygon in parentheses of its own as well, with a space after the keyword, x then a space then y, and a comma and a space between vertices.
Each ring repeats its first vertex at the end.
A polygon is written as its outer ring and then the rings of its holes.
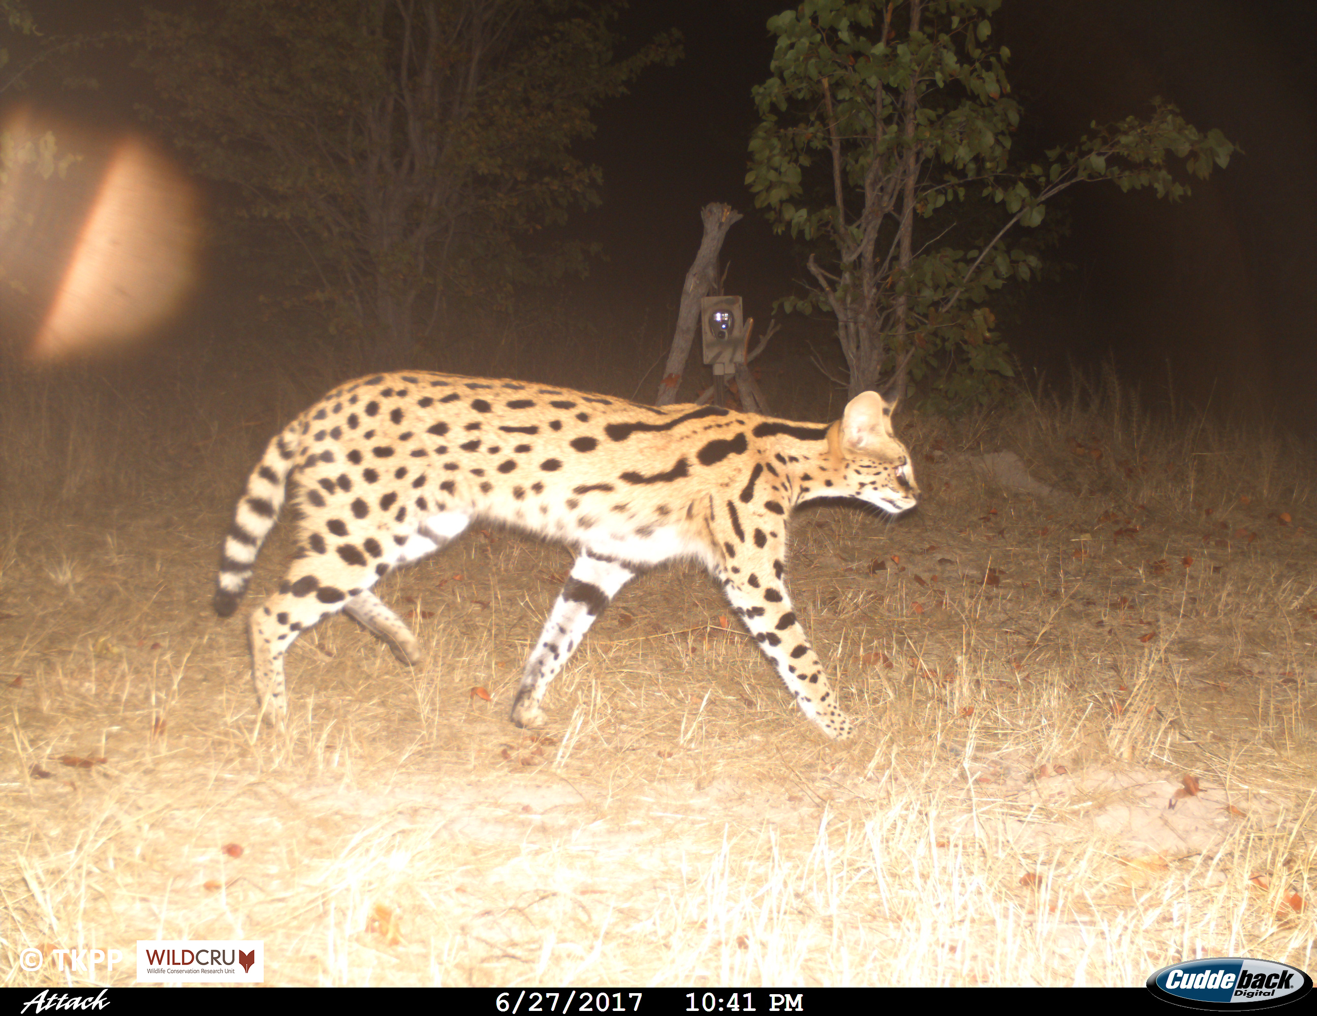
POLYGON ((1313 979, 1299 967, 1239 957, 1164 966, 1146 983, 1163 1002, 1191 1009, 1264 1009, 1313 990, 1313 979))

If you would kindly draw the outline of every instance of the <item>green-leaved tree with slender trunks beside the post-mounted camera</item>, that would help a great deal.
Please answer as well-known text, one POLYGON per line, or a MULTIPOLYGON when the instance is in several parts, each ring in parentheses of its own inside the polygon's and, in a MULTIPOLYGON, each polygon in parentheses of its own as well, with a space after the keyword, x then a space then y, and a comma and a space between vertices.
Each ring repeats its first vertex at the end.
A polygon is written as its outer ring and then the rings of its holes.
POLYGON ((901 355, 915 378, 950 357, 959 371, 946 394, 988 397, 992 379, 1011 374, 989 296, 1042 265, 1036 243, 1006 245, 1013 228, 1038 226, 1046 203, 1081 182, 1176 200, 1189 188, 1172 155, 1205 179, 1233 151, 1220 130, 1202 134, 1154 100, 1147 120, 1094 124, 1046 163, 1013 163, 1010 54, 988 45, 998 7, 803 0, 768 22, 773 76, 753 92, 761 122, 745 180, 778 232, 818 245, 817 288, 785 303, 836 316, 852 396, 901 355), (973 208, 984 201, 997 207, 986 228, 973 208), (939 246, 967 211, 979 222, 968 249, 939 246))

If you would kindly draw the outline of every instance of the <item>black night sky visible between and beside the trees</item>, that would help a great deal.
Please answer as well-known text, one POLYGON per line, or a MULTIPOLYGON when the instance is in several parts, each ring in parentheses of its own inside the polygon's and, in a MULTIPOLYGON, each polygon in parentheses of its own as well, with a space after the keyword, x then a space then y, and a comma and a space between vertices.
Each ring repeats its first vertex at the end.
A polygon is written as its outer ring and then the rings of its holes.
MULTIPOLYGON (((772 54, 764 25, 785 5, 641 0, 626 14, 635 43, 680 28, 686 58, 648 71, 601 111, 597 137, 582 146, 605 170, 605 205, 573 230, 602 241, 611 258, 582 297, 623 308, 623 328, 639 317, 657 332, 670 326, 699 242, 698 211, 710 200, 745 215, 723 251, 728 291, 765 317, 789 290, 788 241, 772 234, 741 183, 755 122, 749 88, 766 78, 772 54)), ((53 30, 95 28, 116 9, 133 8, 33 3, 53 30)), ((1065 141, 1090 120, 1143 114, 1162 95, 1243 149, 1180 205, 1102 184, 1069 192, 1073 230, 1056 257, 1076 268, 1033 287, 1021 320, 1004 325, 1027 367, 1056 376, 1071 358, 1110 355, 1146 395, 1164 395, 1169 374, 1200 405, 1279 407, 1288 425, 1317 426, 1308 396, 1317 376, 1314 22, 1310 0, 1006 0, 996 37, 1013 50, 1022 138, 1065 141)), ((92 62, 103 95, 61 105, 132 122, 128 95, 141 80, 124 78, 121 58, 92 62)))

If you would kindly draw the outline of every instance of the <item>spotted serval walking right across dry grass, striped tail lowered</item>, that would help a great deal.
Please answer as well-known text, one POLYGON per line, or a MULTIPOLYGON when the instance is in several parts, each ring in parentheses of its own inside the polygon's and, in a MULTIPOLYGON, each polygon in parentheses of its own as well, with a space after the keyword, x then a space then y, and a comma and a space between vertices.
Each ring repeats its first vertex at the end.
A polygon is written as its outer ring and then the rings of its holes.
POLYGON ((504 522, 577 551, 531 651, 512 721, 535 726, 549 682, 640 571, 694 558, 828 737, 852 732, 786 592, 786 516, 815 497, 890 515, 918 500, 896 400, 864 392, 831 426, 710 405, 653 408, 547 384, 379 374, 344 384, 266 449, 224 540, 215 609, 228 617, 291 479, 296 553, 250 620, 263 711, 287 713, 283 657, 346 611, 410 663, 415 636, 370 592, 392 569, 473 521, 504 522))

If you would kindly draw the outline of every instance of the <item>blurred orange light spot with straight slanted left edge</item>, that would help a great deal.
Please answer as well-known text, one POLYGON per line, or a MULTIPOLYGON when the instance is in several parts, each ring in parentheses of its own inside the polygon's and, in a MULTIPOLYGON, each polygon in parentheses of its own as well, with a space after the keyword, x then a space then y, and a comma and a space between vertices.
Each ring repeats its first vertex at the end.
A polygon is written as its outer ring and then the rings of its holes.
POLYGON ((192 286, 196 237, 187 180, 141 142, 120 142, 29 355, 107 351, 163 322, 192 286))

